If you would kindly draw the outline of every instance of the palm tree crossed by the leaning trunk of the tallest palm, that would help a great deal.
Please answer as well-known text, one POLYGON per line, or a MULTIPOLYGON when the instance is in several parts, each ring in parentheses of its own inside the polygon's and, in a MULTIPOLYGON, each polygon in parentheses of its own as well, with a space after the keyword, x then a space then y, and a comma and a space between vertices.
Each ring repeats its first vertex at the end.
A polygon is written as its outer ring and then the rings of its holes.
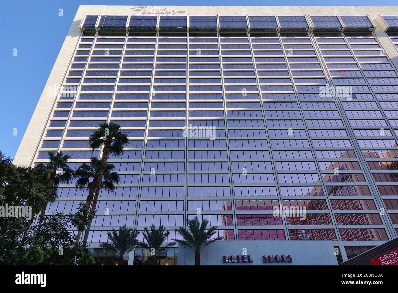
MULTIPOLYGON (((91 157, 90 158, 90 164, 83 163, 76 171, 75 171, 75 177, 78 177, 76 181, 76 187, 78 189, 88 189, 89 192, 91 192, 94 189, 94 179, 98 177, 98 174, 100 173, 101 169, 101 160, 96 158, 96 157, 91 157), (91 179, 93 180, 91 181, 91 179)), ((113 192, 115 190, 115 184, 120 182, 119 179, 119 174, 117 172, 112 172, 115 169, 115 166, 112 164, 106 164, 105 165, 105 171, 103 173, 103 178, 101 180, 101 186, 100 188, 104 188, 107 191, 113 192)), ((95 193, 98 197, 100 193, 100 188, 98 190, 95 190, 95 193)), ((86 202, 86 208, 90 208, 90 206, 87 205, 86 202)), ((94 209, 91 209, 94 214, 96 211, 96 207, 94 209)), ((84 212, 87 210, 85 209, 84 212)), ((88 233, 90 232, 91 228, 91 220, 88 222, 88 226, 86 229, 86 234, 84 235, 84 242, 87 242, 88 239, 88 233)), ((80 235, 83 231, 78 231, 78 235, 76 237, 76 242, 80 240, 80 235)))

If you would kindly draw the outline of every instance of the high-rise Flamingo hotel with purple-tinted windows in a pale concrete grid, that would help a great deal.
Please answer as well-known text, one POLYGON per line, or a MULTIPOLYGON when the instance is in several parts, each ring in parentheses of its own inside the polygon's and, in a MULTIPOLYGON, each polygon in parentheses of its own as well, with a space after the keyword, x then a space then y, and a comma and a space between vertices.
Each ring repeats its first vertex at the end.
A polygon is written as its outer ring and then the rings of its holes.
MULTIPOLYGON (((62 151, 76 169, 100 155, 96 126, 122 126, 121 183, 88 237, 98 264, 112 228, 163 224, 171 241, 195 214, 225 240, 202 263, 256 243, 258 264, 337 264, 397 237, 397 48, 398 6, 80 6, 14 163, 62 151)), ((47 214, 87 196, 58 194, 47 214)))

